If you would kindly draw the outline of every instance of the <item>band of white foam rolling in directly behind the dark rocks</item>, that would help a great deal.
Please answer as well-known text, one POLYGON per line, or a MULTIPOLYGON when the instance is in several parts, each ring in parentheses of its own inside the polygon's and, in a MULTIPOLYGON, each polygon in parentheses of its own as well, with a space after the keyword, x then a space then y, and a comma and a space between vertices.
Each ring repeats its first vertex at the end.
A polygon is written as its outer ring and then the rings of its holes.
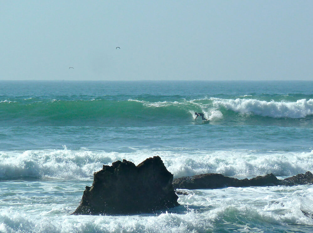
POLYGON ((27 150, 0 152, 0 178, 54 177, 58 179, 92 177, 102 165, 129 160, 138 165, 146 158, 160 156, 174 177, 203 173, 225 176, 257 176, 273 173, 292 176, 313 171, 313 152, 255 152, 241 150, 173 152, 137 149, 132 153, 88 151, 82 149, 27 150))

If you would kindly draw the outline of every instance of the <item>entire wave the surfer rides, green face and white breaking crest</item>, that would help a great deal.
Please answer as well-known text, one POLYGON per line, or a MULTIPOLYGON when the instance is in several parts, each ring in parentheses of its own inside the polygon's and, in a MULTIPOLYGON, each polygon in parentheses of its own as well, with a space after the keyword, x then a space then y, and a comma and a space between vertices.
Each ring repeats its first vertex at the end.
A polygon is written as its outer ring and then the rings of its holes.
MULTIPOLYGON (((281 98, 281 97, 279 97, 281 98)), ((194 121, 203 112, 211 121, 268 121, 311 119, 313 99, 268 101, 250 96, 236 99, 202 98, 178 101, 147 100, 52 100, 0 103, 0 125, 179 125, 194 121)))

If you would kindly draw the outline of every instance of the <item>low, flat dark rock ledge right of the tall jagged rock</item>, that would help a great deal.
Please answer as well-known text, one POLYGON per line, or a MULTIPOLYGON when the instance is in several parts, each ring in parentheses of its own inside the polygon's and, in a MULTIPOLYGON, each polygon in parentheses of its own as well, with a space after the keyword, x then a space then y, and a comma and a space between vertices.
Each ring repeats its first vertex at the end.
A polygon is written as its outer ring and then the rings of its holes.
POLYGON ((307 171, 284 180, 277 179, 272 173, 265 176, 257 176, 252 179, 239 180, 221 174, 209 173, 190 177, 181 177, 173 180, 175 189, 214 189, 222 187, 248 187, 248 186, 275 186, 275 185, 302 185, 312 184, 313 174, 307 171))

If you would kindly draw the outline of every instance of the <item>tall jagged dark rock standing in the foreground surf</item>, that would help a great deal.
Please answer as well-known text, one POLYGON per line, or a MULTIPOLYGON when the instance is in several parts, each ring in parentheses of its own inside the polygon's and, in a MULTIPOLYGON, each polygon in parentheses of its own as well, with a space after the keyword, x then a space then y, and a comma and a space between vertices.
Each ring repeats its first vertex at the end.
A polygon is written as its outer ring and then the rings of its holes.
POLYGON ((172 186, 173 175, 159 156, 137 166, 127 160, 103 165, 93 177, 93 185, 86 186, 72 214, 151 213, 179 205, 172 186))

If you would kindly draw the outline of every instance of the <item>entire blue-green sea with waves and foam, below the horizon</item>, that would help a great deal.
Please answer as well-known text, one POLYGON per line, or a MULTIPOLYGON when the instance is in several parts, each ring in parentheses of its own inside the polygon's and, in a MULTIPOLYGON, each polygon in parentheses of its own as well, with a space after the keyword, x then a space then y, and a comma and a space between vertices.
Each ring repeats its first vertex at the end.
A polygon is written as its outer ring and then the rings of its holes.
POLYGON ((73 216, 93 172, 313 171, 313 82, 0 81, 0 232, 313 232, 313 186, 191 190, 156 214, 73 216), (202 112, 209 122, 195 118, 202 112))

